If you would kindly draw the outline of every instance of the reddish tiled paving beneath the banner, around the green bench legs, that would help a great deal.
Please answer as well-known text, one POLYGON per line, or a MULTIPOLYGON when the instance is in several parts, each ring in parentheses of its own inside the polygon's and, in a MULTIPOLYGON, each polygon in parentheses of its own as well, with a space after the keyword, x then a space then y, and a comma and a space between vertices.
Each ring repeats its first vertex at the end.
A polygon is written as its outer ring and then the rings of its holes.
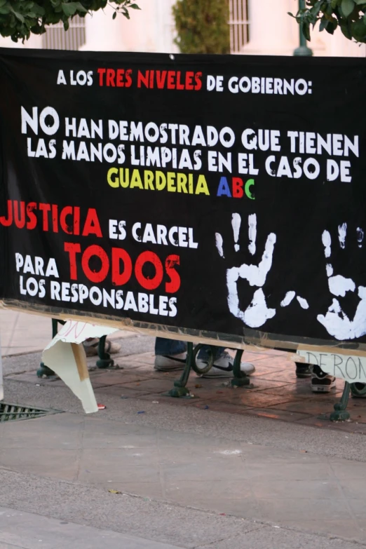
MULTIPOLYGON (((27 358, 24 354, 16 355, 20 348, 27 349, 28 353, 35 351, 34 341, 39 345, 41 342, 48 343, 50 320, 46 319, 45 325, 41 317, 23 313, 14 313, 14 316, 11 313, 9 322, 6 320, 9 313, 11 311, 0 311, 0 329, 1 325, 8 325, 8 331, 4 330, 8 337, 8 356, 3 360, 4 377, 30 386, 41 384, 63 388, 65 385, 60 379, 37 379, 36 370, 41 362, 39 353, 27 355, 27 358), (39 331, 39 339, 36 340, 32 339, 34 326, 39 331)), ((266 417, 326 430, 366 434, 366 399, 350 398, 348 412, 351 421, 331 423, 328 418, 334 410, 334 403, 341 398, 344 382, 337 380, 337 388, 330 394, 314 394, 310 379, 297 379, 294 362, 281 351, 269 349, 260 355, 245 352, 244 360, 253 362, 256 367, 255 374, 250 377, 250 388, 231 388, 228 379, 201 379, 192 372, 187 384, 192 398, 171 398, 166 393, 173 387, 180 372, 154 370, 154 338, 123 331, 111 337, 121 344, 120 353, 113 356, 119 369, 98 370, 95 367, 96 358, 88 359, 90 379, 100 402, 104 402, 108 395, 117 395, 125 399, 138 398, 165 402, 171 406, 266 417)))

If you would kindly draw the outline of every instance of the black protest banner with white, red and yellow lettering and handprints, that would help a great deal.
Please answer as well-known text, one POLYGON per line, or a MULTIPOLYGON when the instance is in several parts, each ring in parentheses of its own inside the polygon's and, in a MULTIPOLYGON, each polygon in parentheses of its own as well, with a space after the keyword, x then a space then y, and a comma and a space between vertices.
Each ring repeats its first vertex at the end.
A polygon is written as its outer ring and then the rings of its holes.
POLYGON ((366 342, 364 59, 1 50, 0 298, 366 342))

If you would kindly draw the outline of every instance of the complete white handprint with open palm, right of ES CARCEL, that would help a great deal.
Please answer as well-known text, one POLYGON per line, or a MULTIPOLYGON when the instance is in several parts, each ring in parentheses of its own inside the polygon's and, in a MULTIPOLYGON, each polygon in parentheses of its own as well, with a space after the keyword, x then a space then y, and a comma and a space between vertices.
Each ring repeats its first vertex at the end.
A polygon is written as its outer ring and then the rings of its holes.
MULTIPOLYGON (((233 235, 234 235, 234 250, 239 252, 240 245, 238 244, 238 237, 240 233, 241 217, 239 214, 234 213, 232 217, 233 235)), ((248 216, 248 236, 249 244, 248 251, 251 255, 255 255, 256 251, 256 239, 257 239, 257 216, 255 214, 248 216)), ((276 234, 269 234, 262 260, 258 265, 251 265, 243 263, 240 267, 231 267, 226 271, 226 285, 228 290, 228 305, 229 310, 233 316, 243 320, 243 323, 252 328, 257 328, 264 325, 266 320, 273 318, 276 314, 276 309, 269 309, 266 304, 266 297, 262 289, 256 290, 253 294, 252 302, 245 309, 241 311, 239 307, 238 297, 238 279, 243 278, 248 280, 250 286, 257 286, 262 288, 266 282, 267 274, 272 266, 272 257, 274 245, 276 244, 276 234)), ((219 233, 216 233, 216 247, 219 251, 219 255, 224 257, 223 240, 219 233)))

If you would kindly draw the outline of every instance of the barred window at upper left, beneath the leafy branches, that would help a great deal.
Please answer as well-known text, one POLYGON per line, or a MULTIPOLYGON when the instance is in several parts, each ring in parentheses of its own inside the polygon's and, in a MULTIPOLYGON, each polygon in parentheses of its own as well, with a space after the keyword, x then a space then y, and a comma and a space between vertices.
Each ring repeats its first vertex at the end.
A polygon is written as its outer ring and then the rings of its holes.
POLYGON ((85 40, 85 19, 75 15, 67 31, 62 23, 50 25, 42 36, 42 46, 46 50, 79 50, 85 40))

